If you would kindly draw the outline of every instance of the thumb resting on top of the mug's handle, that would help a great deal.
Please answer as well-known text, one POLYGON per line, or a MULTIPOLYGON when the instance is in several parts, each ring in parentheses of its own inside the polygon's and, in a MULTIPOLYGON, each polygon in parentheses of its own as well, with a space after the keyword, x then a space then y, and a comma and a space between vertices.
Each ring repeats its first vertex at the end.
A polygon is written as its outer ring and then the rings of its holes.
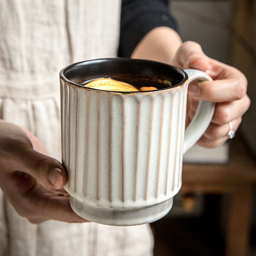
POLYGON ((210 68, 209 57, 204 54, 200 44, 187 41, 182 44, 176 54, 176 65, 182 69, 199 69, 207 71, 210 68))

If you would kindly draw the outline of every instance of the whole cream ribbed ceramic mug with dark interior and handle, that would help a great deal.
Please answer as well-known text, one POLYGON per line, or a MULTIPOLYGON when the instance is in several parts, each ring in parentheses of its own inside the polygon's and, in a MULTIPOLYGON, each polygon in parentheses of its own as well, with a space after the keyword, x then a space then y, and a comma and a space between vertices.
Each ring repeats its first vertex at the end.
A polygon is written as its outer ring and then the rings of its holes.
POLYGON ((185 130, 188 83, 202 71, 128 58, 75 63, 60 72, 62 161, 71 208, 107 225, 156 221, 181 188, 183 154, 207 129, 214 103, 201 101, 185 130), (157 90, 87 88, 99 77, 157 90))

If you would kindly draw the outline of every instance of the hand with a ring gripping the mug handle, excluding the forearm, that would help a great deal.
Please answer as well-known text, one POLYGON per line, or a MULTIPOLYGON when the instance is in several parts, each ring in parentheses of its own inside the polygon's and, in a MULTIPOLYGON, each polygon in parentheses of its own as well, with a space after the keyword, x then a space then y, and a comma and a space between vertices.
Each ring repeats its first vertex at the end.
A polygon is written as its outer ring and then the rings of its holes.
POLYGON ((214 80, 188 86, 186 121, 189 123, 193 118, 199 99, 216 102, 212 121, 197 144, 204 147, 223 144, 228 139, 229 122, 236 131, 250 106, 245 76, 236 68, 209 58, 198 43, 191 41, 181 45, 171 64, 181 69, 202 70, 214 80))

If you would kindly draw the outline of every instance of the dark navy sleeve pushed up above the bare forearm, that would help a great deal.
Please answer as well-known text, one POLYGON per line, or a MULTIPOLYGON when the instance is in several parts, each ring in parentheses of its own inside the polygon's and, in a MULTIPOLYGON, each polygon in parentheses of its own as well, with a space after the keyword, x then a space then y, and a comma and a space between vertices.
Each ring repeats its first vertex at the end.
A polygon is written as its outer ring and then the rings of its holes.
POLYGON ((122 0, 118 56, 130 57, 144 35, 160 26, 177 31, 168 0, 122 0))

